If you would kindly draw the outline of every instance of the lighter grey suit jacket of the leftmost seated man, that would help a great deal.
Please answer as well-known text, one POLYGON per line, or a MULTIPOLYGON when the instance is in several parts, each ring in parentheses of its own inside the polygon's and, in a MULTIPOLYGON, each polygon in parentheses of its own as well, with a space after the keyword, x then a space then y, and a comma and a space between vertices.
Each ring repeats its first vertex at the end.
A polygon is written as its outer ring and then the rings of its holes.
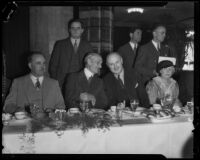
MULTIPOLYGON (((32 92, 30 87, 34 86, 30 75, 14 79, 10 93, 6 97, 4 109, 9 104, 24 107, 31 103, 32 92)), ((65 108, 64 99, 60 91, 58 81, 44 77, 42 86, 43 108, 65 108)))

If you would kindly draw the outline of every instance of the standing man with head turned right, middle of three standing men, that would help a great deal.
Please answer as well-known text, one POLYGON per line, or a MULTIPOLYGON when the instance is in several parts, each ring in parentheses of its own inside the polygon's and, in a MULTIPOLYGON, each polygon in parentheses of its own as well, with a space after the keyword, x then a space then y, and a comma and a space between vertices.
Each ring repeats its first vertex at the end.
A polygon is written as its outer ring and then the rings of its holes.
POLYGON ((132 27, 130 29, 130 42, 121 46, 118 53, 123 58, 124 68, 133 68, 137 56, 138 43, 142 38, 142 30, 139 27, 132 27))

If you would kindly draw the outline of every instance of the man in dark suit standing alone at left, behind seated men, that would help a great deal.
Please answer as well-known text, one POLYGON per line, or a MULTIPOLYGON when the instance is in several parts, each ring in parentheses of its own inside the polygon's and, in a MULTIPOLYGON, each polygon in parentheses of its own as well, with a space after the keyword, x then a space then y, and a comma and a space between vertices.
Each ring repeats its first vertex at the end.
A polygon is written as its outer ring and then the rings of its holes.
POLYGON ((69 73, 80 71, 86 53, 92 52, 92 46, 81 38, 83 24, 79 19, 68 23, 69 37, 55 43, 49 62, 50 77, 58 80, 60 87, 69 73))

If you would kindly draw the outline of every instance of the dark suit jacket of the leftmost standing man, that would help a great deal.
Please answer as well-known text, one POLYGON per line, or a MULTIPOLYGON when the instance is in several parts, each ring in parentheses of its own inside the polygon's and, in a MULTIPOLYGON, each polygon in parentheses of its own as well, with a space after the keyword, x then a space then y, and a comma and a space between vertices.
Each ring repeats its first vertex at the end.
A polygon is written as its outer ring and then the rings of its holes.
MULTIPOLYGON (((80 70, 83 67, 83 58, 88 52, 92 52, 92 46, 81 40, 77 50, 80 70)), ((56 41, 49 62, 49 74, 51 78, 58 80, 61 87, 66 74, 69 73, 72 54, 75 53, 70 38, 56 41)))

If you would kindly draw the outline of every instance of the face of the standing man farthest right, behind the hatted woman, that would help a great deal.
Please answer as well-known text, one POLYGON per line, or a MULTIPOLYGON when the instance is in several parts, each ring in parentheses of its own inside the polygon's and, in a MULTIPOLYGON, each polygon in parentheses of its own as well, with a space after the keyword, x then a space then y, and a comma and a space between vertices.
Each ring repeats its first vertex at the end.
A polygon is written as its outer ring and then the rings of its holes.
POLYGON ((166 29, 163 26, 157 27, 153 32, 153 39, 155 42, 163 42, 166 37, 166 29))

